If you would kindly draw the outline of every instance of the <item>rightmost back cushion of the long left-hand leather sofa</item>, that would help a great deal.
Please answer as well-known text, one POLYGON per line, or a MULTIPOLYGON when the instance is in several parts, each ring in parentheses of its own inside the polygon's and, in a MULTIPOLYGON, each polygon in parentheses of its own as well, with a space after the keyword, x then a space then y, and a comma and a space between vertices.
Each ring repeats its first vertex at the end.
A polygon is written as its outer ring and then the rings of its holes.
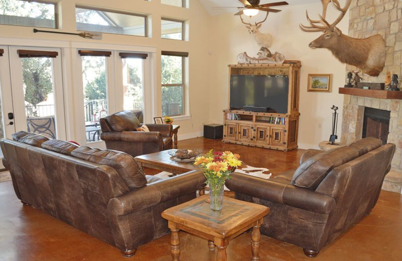
POLYGON ((134 158, 124 152, 81 146, 73 150, 71 156, 114 168, 130 189, 147 184, 145 174, 139 170, 134 158))

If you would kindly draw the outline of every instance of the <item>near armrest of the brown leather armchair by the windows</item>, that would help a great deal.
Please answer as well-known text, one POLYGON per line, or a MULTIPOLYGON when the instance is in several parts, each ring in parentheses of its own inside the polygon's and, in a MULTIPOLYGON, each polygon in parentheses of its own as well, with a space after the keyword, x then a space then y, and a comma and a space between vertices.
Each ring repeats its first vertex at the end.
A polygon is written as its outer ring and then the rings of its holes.
POLYGON ((122 141, 138 143, 161 143, 162 136, 159 132, 105 132, 100 134, 103 141, 122 141))

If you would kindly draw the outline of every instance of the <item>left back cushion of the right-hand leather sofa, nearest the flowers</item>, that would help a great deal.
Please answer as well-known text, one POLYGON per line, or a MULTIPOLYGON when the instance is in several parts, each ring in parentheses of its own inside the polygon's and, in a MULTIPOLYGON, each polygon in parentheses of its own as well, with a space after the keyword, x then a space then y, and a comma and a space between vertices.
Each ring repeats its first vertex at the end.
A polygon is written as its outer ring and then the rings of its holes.
POLYGON ((334 168, 359 157, 353 147, 341 147, 320 153, 306 160, 294 172, 291 184, 315 190, 334 168))

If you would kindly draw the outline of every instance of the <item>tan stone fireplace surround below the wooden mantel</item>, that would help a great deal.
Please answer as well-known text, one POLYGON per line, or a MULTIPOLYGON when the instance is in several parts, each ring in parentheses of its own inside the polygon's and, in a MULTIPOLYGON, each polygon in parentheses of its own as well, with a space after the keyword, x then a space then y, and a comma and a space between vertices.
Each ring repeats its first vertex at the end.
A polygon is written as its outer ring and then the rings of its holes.
MULTIPOLYGON (((341 144, 350 144, 363 137, 365 108, 389 111, 387 143, 396 145, 392 159, 392 169, 387 174, 383 189, 401 193, 402 191, 402 100, 344 95, 341 144), (391 182, 387 182, 391 181, 391 182)), ((372 123, 371 126, 376 126, 372 123)), ((378 123, 378 128, 384 128, 378 123)), ((379 130, 371 130, 378 132, 379 130)), ((381 131, 381 130, 380 130, 381 131)), ((385 131, 382 129, 381 136, 385 131)), ((383 138, 383 137, 382 137, 383 138)))

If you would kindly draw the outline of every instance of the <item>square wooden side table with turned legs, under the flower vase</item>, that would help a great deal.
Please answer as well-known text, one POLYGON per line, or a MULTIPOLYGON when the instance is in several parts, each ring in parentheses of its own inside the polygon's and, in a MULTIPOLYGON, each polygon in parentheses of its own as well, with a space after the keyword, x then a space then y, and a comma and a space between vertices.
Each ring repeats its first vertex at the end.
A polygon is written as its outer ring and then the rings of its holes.
POLYGON ((179 230, 208 240, 210 250, 218 248, 217 261, 226 261, 226 246, 229 241, 249 228, 251 232, 251 260, 259 260, 260 226, 269 208, 224 197, 222 210, 215 211, 205 200, 208 195, 200 196, 183 204, 168 208, 162 217, 168 220, 171 235, 172 260, 180 257, 179 230))

